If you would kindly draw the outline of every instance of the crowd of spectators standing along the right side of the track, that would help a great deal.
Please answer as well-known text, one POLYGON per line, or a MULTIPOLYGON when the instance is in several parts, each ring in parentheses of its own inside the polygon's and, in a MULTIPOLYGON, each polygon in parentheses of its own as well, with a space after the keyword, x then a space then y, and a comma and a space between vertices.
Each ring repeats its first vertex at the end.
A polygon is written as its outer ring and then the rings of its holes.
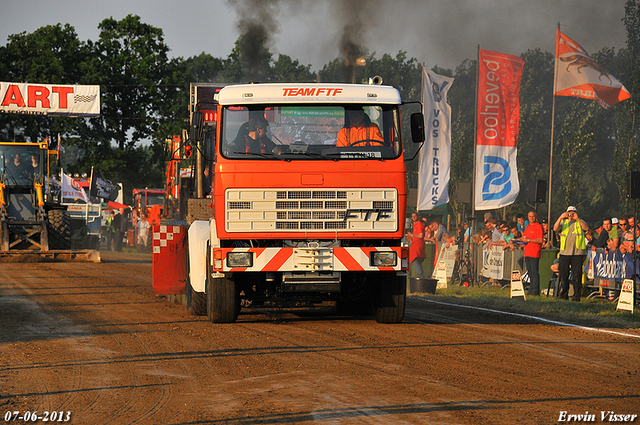
POLYGON ((421 217, 414 213, 412 229, 407 232, 414 255, 411 263, 418 276, 422 277, 419 263, 424 260, 424 244, 444 241, 448 245, 468 242, 483 248, 502 247, 504 250, 524 250, 523 262, 529 274, 529 294, 540 295, 539 260, 542 249, 559 249, 559 297, 568 299, 569 285, 574 288, 572 300, 580 300, 582 265, 588 251, 602 249, 607 253, 619 251, 631 253, 640 251, 640 223, 633 214, 625 213, 617 217, 604 217, 590 227, 579 218, 575 207, 570 206, 562 213, 551 228, 546 219, 538 220, 535 211, 527 216, 516 214, 513 221, 498 220, 486 213, 484 223, 477 233, 469 222, 457 227, 456 237, 451 236, 436 217, 421 217), (416 247, 419 247, 416 249, 416 247), (572 273, 571 273, 572 272, 572 273))

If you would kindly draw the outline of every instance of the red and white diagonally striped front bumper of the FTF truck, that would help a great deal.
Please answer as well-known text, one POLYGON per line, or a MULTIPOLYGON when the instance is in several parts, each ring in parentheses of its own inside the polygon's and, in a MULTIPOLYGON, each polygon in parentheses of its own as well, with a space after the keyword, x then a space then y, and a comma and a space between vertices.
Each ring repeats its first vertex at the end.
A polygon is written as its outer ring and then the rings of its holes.
POLYGON ((408 249, 401 247, 335 248, 214 248, 213 269, 221 272, 355 272, 401 271, 409 266, 408 249), (372 265, 374 252, 395 252, 394 265, 372 265), (230 253, 251 253, 250 267, 233 267, 230 253))

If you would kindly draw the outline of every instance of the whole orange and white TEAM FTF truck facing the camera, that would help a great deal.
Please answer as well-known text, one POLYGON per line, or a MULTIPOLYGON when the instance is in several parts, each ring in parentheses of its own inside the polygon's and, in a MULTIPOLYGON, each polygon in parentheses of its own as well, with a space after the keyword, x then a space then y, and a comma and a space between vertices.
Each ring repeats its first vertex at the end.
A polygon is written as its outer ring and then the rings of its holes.
MULTIPOLYGON (((228 323, 242 308, 331 304, 401 322, 409 264, 398 91, 231 85, 203 106, 194 86, 192 185, 180 193, 191 198, 188 256, 170 262, 188 270, 188 311, 228 323), (381 139, 367 131, 366 140, 337 142, 353 110, 381 139), (257 122, 267 125, 269 142, 252 138, 257 122)), ((422 114, 411 122, 413 141, 423 141, 422 114)))

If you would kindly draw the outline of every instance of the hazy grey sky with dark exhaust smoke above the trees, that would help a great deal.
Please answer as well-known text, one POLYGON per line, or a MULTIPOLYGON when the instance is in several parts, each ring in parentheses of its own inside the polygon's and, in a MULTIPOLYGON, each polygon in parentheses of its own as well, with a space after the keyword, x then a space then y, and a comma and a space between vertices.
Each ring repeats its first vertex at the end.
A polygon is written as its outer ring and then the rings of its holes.
MULTIPOLYGON (((241 33, 239 12, 250 3, 0 0, 0 42, 5 45, 10 34, 57 23, 72 25, 83 41, 96 41, 103 19, 135 14, 164 31, 171 56, 205 52, 226 58, 241 33)), ((429 68, 455 68, 475 58, 478 44, 516 55, 535 48, 553 52, 558 22, 589 53, 603 47, 618 50, 626 40, 624 4, 625 0, 260 0, 259 14, 271 23, 271 52, 312 65, 313 71, 340 57, 346 24, 352 24, 352 31, 359 29, 359 44, 378 58, 402 50, 429 68), (360 8, 354 10, 353 5, 360 8)))

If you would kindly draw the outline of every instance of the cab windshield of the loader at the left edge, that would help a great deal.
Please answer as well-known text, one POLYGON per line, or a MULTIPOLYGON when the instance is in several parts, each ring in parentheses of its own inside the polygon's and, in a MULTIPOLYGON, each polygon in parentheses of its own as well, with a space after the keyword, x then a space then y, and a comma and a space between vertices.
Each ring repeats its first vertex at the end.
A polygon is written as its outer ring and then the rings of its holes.
POLYGON ((0 181, 7 186, 27 186, 42 177, 38 146, 0 145, 0 181))

